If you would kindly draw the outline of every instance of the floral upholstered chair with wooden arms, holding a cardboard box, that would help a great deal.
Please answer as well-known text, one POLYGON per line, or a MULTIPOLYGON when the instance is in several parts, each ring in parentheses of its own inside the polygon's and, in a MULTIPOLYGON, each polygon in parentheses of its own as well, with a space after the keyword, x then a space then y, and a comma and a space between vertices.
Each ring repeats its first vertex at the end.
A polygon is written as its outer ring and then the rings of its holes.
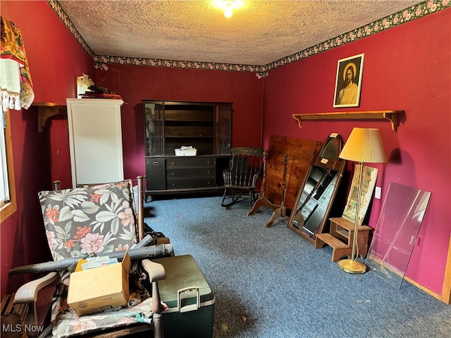
MULTIPOLYGON (((39 192, 47 242, 54 261, 83 258, 93 253, 97 256, 106 256, 133 249, 144 234, 142 186, 143 177, 140 176, 136 206, 132 198, 131 180, 97 187, 39 192)), ((163 252, 171 254, 171 244, 158 245, 165 246, 163 252)), ((60 282, 51 308, 51 329, 46 330, 53 334, 53 337, 62 338, 80 334, 90 334, 89 337, 92 337, 93 332, 103 334, 113 329, 115 337, 149 329, 153 330, 154 337, 163 337, 161 311, 164 305, 159 299, 158 291, 158 280, 165 278, 162 265, 149 259, 135 261, 132 264, 130 280, 135 280, 136 283, 130 283, 130 294, 135 305, 131 304, 132 306, 118 311, 80 317, 71 311, 67 303, 70 272, 64 270, 49 273, 40 280, 25 284, 16 292, 16 303, 30 303, 32 314, 29 315, 30 325, 38 324, 36 313, 38 289, 58 278, 60 282), (145 282, 149 286, 152 285, 148 288, 152 290, 147 291, 140 287, 131 289, 134 284, 140 285, 143 276, 147 277, 145 282), (138 322, 148 324, 138 325, 138 322), (118 327, 121 328, 121 332, 116 332, 118 327)))

